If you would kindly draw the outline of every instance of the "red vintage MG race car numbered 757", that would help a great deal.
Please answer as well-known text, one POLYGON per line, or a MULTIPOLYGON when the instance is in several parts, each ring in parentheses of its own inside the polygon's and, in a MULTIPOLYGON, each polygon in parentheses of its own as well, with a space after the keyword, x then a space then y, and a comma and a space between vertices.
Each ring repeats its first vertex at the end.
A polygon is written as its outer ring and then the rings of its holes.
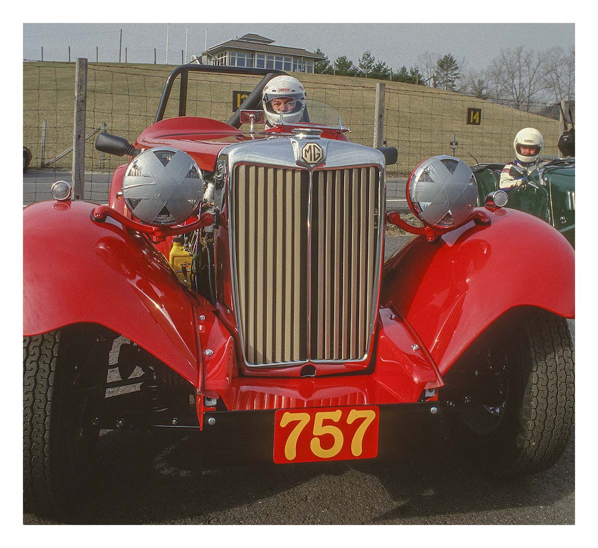
POLYGON ((193 431, 216 459, 228 440, 279 465, 400 458, 456 428, 501 477, 563 452, 572 246, 496 193, 477 207, 450 156, 408 179, 421 226, 387 215, 396 149, 350 142, 309 101, 264 130, 278 74, 180 66, 134 144, 97 138, 128 157, 107 205, 57 182, 24 209, 28 509, 76 504, 109 428, 193 431), (187 116, 190 74, 206 71, 264 78, 227 122, 187 116), (163 119, 177 79, 179 115, 163 119), (388 224, 414 238, 385 261, 388 224))

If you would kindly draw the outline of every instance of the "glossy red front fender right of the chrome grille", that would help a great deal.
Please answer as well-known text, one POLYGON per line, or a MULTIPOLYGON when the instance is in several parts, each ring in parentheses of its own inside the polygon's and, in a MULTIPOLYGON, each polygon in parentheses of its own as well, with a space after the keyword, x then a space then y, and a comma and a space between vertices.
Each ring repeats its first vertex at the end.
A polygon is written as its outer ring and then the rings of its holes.
POLYGON ((442 375, 509 309, 575 316, 575 252, 567 240, 520 211, 488 212, 489 226, 472 223, 437 243, 420 236, 383 269, 380 305, 407 319, 442 375))

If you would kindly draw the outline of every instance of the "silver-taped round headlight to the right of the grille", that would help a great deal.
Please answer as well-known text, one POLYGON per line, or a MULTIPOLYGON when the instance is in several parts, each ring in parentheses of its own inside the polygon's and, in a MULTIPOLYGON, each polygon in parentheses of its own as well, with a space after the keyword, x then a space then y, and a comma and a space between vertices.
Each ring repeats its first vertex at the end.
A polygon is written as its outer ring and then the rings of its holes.
POLYGON ((477 203, 474 174, 462 160, 434 156, 407 179, 407 203, 428 226, 450 228, 464 223, 477 203))

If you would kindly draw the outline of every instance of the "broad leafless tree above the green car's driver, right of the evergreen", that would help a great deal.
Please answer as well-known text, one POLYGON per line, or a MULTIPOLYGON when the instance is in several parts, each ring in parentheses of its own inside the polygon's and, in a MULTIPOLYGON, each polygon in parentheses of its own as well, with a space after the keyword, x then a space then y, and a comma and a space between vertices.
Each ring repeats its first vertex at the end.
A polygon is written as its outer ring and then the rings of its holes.
POLYGON ((489 76, 496 101, 529 112, 546 89, 545 63, 533 50, 523 46, 501 50, 490 63, 489 76))

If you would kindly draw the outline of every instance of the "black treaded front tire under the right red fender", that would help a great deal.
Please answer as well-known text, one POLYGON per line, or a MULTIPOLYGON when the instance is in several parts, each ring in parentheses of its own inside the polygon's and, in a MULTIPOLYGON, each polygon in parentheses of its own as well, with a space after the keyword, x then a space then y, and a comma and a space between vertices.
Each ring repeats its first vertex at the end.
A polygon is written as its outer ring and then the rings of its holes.
POLYGON ((474 381, 465 397, 470 401, 456 406, 475 433, 475 458, 495 477, 550 468, 573 430, 575 353, 566 319, 534 310, 503 322, 484 334, 469 371, 474 367, 483 377, 484 359, 492 364, 496 389, 480 388, 474 381), (484 394, 477 406, 476 394, 484 394), (483 416, 484 410, 489 416, 483 416))

